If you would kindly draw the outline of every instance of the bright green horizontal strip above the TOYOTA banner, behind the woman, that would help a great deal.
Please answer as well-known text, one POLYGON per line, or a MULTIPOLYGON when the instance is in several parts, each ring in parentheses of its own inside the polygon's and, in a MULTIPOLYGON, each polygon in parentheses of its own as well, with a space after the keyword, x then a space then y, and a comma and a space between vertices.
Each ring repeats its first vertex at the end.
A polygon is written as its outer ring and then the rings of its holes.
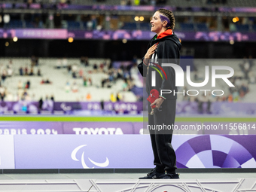
MULTIPOLYGON (((142 122, 143 117, 2 116, 1 121, 142 122)), ((176 122, 256 122, 256 117, 176 117, 176 122)))

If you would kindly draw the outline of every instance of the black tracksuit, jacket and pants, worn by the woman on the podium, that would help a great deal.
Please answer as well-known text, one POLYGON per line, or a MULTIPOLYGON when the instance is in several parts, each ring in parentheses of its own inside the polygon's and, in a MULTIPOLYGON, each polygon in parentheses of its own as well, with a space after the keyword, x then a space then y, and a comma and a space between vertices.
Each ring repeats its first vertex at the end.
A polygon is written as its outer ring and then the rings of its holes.
MULTIPOLYGON (((157 59, 158 65, 161 66, 162 63, 175 63, 179 65, 180 59, 180 50, 181 43, 178 37, 172 33, 172 35, 164 36, 163 38, 151 39, 148 44, 148 48, 152 45, 158 43, 157 49, 155 53, 151 56, 153 62, 157 59)), ((148 49, 147 48, 147 49, 148 49)), ((143 58, 144 59, 144 58, 143 58)), ((142 63, 139 64, 138 69, 143 77, 146 78, 146 90, 149 94, 152 89, 157 89, 160 93, 160 90, 175 90, 177 92, 177 87, 175 87, 175 71, 172 67, 162 67, 164 72, 166 72, 166 77, 162 70, 160 70, 157 66, 155 68, 159 69, 161 75, 156 72, 156 81, 155 87, 151 86, 151 71, 155 71, 154 68, 145 66, 142 63)), ((165 100, 163 101, 160 109, 154 110, 156 111, 154 115, 148 114, 148 125, 156 126, 156 125, 173 125, 175 122, 175 109, 176 109, 176 99, 177 95, 173 95, 172 93, 163 94, 165 100)), ((148 113, 151 111, 151 107, 148 102, 148 113)), ((154 127, 155 128, 155 127, 154 127)), ((176 156, 175 151, 172 148, 172 130, 168 131, 158 131, 158 130, 149 130, 151 135, 151 145, 154 153, 154 165, 156 166, 157 172, 168 172, 175 173, 176 167, 176 156)))

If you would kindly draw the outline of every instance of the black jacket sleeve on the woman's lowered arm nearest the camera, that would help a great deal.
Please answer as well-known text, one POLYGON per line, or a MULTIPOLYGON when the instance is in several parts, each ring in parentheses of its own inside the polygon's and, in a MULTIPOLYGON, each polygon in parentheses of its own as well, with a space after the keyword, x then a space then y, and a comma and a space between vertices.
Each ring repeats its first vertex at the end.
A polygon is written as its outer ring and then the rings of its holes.
MULTIPOLYGON (((179 50, 177 45, 173 41, 164 41, 161 46, 161 50, 158 51, 158 55, 161 66, 162 63, 178 64, 179 62, 179 50)), ((161 71, 161 74, 163 75, 163 80, 160 90, 175 90, 175 70, 172 67, 163 67, 163 71, 161 71), (166 73, 166 76, 164 75, 163 71, 166 73)))

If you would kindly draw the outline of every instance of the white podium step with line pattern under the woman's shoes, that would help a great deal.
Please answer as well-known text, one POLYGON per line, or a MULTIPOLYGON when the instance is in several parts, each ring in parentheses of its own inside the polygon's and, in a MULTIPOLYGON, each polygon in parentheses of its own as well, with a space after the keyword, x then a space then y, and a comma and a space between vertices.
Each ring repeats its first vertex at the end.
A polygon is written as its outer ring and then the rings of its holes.
POLYGON ((0 180, 0 191, 242 192, 256 191, 256 178, 5 179, 0 180))

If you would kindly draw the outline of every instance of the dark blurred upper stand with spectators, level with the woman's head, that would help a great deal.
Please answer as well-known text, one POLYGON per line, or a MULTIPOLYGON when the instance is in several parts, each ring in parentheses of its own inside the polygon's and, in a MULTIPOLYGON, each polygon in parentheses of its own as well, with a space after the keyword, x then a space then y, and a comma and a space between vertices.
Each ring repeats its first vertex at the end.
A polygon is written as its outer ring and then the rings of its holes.
MULTIPOLYGON (((26 2, 26 1, 25 1, 26 2)), ((93 29, 105 29, 105 30, 115 30, 115 29, 125 29, 125 30, 149 30, 151 29, 149 20, 151 17, 151 11, 136 11, 133 10, 133 14, 129 14, 130 17, 127 17, 127 12, 129 8, 122 11, 121 6, 118 7, 118 11, 114 12, 105 12, 101 14, 101 8, 98 6, 98 9, 94 13, 90 12, 90 14, 81 13, 81 11, 77 11, 74 14, 74 10, 72 10, 72 17, 65 17, 65 14, 57 13, 57 17, 61 15, 61 17, 56 18, 56 15, 47 15, 47 11, 49 10, 58 10, 66 11, 65 9, 59 8, 57 5, 62 5, 63 3, 71 4, 71 5, 130 5, 126 0, 117 1, 117 0, 105 0, 105 1, 96 1, 96 0, 71 0, 71 1, 51 1, 51 0, 36 0, 29 1, 34 3, 41 3, 41 5, 55 5, 51 8, 45 8, 42 14, 34 14, 32 11, 29 14, 26 14, 26 18, 20 16, 20 20, 17 17, 17 14, 10 14, 11 20, 10 23, 5 23, 4 27, 7 29, 17 29, 17 28, 62 28, 62 29, 84 29, 84 30, 93 30, 93 29), (126 11, 126 13, 124 13, 126 11), (107 13, 107 14, 106 14, 107 13), (44 14, 44 16, 43 16, 44 14), (134 16, 136 14, 142 14, 145 17, 144 20, 135 22, 134 16), (145 15, 144 15, 145 14, 145 15), (27 17, 28 16, 28 17, 27 17), (99 17, 100 16, 100 17, 99 17), (51 18, 53 17, 53 18, 51 18), (84 17, 84 18, 82 18, 84 17), (120 17, 126 17, 126 20, 120 20, 120 17), (51 18, 51 19, 50 19, 51 18), (108 20, 108 22, 106 22, 108 20), (61 24, 59 24, 61 23, 61 24)), ((152 2, 157 1, 130 1, 131 5, 152 5, 152 2), (134 3, 136 2, 136 3, 134 3), (139 2, 139 3, 138 3, 139 2)), ((240 13, 239 20, 237 22, 233 22, 233 17, 236 16, 236 12, 234 10, 229 10, 229 8, 253 8, 256 6, 255 1, 242 1, 242 0, 167 0, 167 1, 159 1, 160 5, 168 5, 174 8, 175 17, 176 17, 176 30, 184 31, 184 32, 210 32, 210 31, 230 31, 230 32, 255 32, 256 20, 252 15, 248 15, 250 13, 240 13), (197 15, 197 9, 200 8, 200 15, 197 15), (226 11, 221 11, 219 8, 223 8, 226 11), (185 14, 182 14, 185 13, 185 14), (191 14, 190 14, 191 13, 191 14), (208 13, 208 14, 206 14, 208 13), (212 14, 210 14, 212 13, 212 14), (221 14, 222 13, 222 14, 221 14), (188 15, 190 17, 188 17, 188 15), (221 14, 221 17, 220 15, 221 14), (206 16, 207 15, 207 16, 206 16), (200 20, 198 20, 198 18, 200 20), (189 20, 189 22, 188 22, 189 20)), ((24 3, 24 1, 2 1, 0 3, 24 3)), ((157 4, 156 4, 157 5, 157 4)), ((15 7, 15 6, 14 6, 15 7)), ((61 7, 61 6, 60 6, 61 7)), ((75 7, 76 9, 78 7, 75 7)), ((152 6, 151 6, 152 8, 152 6)), ((160 8, 160 7, 159 7, 160 8)), ((19 9, 19 8, 16 8, 19 9)), ((20 8, 21 9, 21 8, 20 8)), ((104 8, 102 8, 104 10, 104 8)), ((27 8, 29 11, 29 8, 27 8)), ((88 10, 90 11, 90 10, 88 10)), ((93 10, 94 11, 94 10, 93 10)), ((130 11, 131 12, 131 11, 130 11)), ((249 11, 250 12, 250 11, 249 11)), ((237 12, 239 14, 239 11, 237 12)), ((252 14, 252 13, 251 13, 252 14)), ((69 15, 69 14, 66 14, 69 15)))

